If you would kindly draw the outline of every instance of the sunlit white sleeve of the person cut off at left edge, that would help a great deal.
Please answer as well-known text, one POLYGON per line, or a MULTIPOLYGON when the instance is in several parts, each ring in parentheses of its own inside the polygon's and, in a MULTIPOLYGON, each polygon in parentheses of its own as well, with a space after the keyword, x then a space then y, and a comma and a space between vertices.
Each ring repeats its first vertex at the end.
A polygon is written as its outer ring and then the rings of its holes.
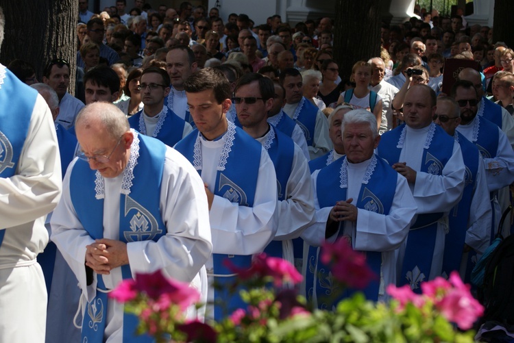
MULTIPOLYGON (((16 120, 14 116, 12 120, 16 120)), ((56 129, 45 99, 38 94, 16 173, 0 178, 1 228, 45 216, 56 207, 61 189, 56 129)))

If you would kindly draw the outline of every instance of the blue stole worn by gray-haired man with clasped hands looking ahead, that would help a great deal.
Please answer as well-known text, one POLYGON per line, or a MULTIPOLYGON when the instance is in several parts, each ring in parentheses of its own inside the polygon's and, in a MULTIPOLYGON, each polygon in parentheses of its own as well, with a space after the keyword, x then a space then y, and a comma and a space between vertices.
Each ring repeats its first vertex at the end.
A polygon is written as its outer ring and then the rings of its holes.
MULTIPOLYGON (((347 160, 342 157, 329 166, 319 170, 317 176, 316 188, 319 208, 332 207, 337 201, 347 199, 347 160), (346 173, 345 173, 346 172, 346 173)), ((384 160, 374 155, 368 166, 366 175, 371 173, 369 179, 363 179, 360 186, 360 192, 357 199, 356 207, 367 211, 376 212, 378 214, 389 214, 396 190, 397 173, 384 160)), ((365 177, 365 175, 363 175, 365 177)), ((340 226, 338 237, 343 234, 343 227, 340 226)), ((365 251, 366 262, 380 277, 382 266, 382 253, 380 251, 365 251)), ((321 260, 317 262, 317 280, 316 293, 321 302, 318 303, 319 308, 331 309, 332 305, 336 305, 341 298, 350 296, 356 290, 347 289, 342 296, 336 299, 329 298, 335 288, 332 284, 332 275, 328 273, 328 266, 323 264, 321 260), (327 300, 333 301, 328 302, 327 300)), ((376 301, 378 299, 378 291, 380 288, 380 279, 371 281, 367 288, 363 290, 367 299, 376 301)), ((334 295, 336 295, 335 293, 334 295)))

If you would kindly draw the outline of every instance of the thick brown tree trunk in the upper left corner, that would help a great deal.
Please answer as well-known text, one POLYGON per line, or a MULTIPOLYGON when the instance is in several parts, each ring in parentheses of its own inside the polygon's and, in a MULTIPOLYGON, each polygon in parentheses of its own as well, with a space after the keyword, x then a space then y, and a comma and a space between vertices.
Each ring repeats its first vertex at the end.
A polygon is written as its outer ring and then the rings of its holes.
POLYGON ((70 64, 70 89, 75 94, 77 54, 77 18, 75 0, 0 0, 5 15, 5 38, 0 62, 29 62, 42 80, 42 73, 53 58, 70 64))

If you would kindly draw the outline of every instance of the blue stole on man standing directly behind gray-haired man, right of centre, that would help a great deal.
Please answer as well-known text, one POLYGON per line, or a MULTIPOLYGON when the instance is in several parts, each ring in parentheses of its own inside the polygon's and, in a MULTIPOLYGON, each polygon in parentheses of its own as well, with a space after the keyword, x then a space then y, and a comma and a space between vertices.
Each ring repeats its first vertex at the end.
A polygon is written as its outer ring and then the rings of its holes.
MULTIPOLYGON (((443 168, 452 157, 454 138, 449 136, 439 125, 430 124, 427 136, 432 138, 428 147, 423 149, 421 159, 422 173, 442 175, 443 168)), ((387 131, 382 135, 378 144, 378 155, 392 166, 400 162, 400 153, 405 144, 406 126, 400 125, 396 129, 387 131)), ((417 166, 411 166, 416 168, 417 166)), ((421 292, 419 282, 428 279, 432 268, 432 257, 435 250, 437 221, 443 213, 418 214, 416 223, 411 226, 408 233, 402 271, 398 278, 398 285, 409 283, 415 292, 421 292)))

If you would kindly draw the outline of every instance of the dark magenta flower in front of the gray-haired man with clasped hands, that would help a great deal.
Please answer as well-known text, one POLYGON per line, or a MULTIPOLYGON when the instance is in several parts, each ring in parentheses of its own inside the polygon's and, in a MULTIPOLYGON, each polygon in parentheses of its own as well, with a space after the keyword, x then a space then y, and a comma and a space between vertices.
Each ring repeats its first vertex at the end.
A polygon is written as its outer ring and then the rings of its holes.
POLYGON ((365 255, 354 251, 346 240, 336 240, 334 244, 324 243, 321 247, 321 262, 330 265, 336 280, 351 288, 366 288, 369 281, 376 279, 366 264, 365 255))

